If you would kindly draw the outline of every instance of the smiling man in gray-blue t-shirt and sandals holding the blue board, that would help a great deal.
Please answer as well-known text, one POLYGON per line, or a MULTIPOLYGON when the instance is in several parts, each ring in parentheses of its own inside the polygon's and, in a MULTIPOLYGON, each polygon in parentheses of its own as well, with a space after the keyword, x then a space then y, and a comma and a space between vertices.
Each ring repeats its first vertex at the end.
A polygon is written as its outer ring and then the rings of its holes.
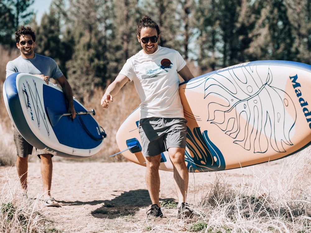
MULTIPOLYGON (((68 112, 71 112, 72 119, 76 117, 76 111, 73 105, 72 88, 67 79, 59 69, 57 63, 50 57, 45 57, 34 52, 35 49, 35 31, 30 27, 21 26, 21 29, 15 32, 16 47, 21 51, 21 56, 7 63, 6 77, 13 73, 23 72, 36 75, 48 84, 49 79, 53 78, 61 85, 65 97, 68 101, 68 112)), ((14 142, 17 151, 16 169, 21 181, 21 187, 25 194, 27 193, 27 171, 28 155, 32 153, 33 146, 30 145, 14 129, 14 142)), ((59 206, 58 202, 51 197, 52 185, 52 157, 44 151, 37 150, 38 157, 41 159, 41 175, 43 182, 43 197, 45 206, 59 206)))

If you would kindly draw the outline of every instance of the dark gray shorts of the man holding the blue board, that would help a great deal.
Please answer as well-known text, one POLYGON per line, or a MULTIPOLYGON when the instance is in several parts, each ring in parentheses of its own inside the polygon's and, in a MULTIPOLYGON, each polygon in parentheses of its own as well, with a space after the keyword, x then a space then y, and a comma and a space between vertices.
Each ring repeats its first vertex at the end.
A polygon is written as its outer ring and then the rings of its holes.
MULTIPOLYGON (((27 155, 32 154, 32 149, 34 148, 32 145, 30 145, 20 134, 18 130, 14 127, 14 142, 16 145, 16 153, 17 156, 25 158, 27 155)), ((45 151, 39 150, 36 148, 36 152, 38 157, 40 158, 40 154, 46 154, 45 151)), ((51 155, 53 157, 53 155, 51 155)))

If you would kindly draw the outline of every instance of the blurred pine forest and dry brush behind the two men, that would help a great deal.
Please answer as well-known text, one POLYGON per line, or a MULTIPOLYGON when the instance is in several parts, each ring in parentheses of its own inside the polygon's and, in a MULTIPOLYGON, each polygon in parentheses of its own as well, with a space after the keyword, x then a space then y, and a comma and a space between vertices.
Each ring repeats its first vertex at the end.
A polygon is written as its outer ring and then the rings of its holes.
MULTIPOLYGON (((31 26, 35 52, 58 63, 74 96, 95 109, 108 135, 93 159, 123 159, 109 155, 118 152, 115 133, 139 99, 131 83, 108 110, 100 99, 126 59, 141 49, 136 25, 144 15, 159 23, 159 45, 178 50, 195 76, 255 60, 310 64, 311 0, 53 0, 40 24, 33 4, 0 0, 1 88, 7 62, 19 56, 15 31, 31 26)), ((0 107, 0 163, 10 164, 16 152, 3 98, 0 107)))

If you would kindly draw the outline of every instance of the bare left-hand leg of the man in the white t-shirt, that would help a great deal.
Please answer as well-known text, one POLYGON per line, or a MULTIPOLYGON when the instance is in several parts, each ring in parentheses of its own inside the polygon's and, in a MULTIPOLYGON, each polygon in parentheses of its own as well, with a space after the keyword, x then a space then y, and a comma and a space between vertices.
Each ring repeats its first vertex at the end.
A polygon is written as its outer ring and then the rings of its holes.
POLYGON ((160 176, 159 167, 161 155, 146 157, 146 185, 149 191, 152 204, 157 204, 160 207, 159 192, 160 192, 160 176))

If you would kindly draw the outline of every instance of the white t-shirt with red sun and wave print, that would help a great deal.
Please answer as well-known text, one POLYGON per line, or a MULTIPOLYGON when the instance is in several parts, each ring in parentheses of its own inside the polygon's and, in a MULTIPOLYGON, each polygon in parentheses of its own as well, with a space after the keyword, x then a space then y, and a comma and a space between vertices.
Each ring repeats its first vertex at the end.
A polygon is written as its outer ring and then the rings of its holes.
POLYGON ((185 65, 179 52, 161 46, 152 54, 141 50, 126 61, 120 74, 134 82, 142 101, 141 119, 184 118, 177 72, 185 65))

